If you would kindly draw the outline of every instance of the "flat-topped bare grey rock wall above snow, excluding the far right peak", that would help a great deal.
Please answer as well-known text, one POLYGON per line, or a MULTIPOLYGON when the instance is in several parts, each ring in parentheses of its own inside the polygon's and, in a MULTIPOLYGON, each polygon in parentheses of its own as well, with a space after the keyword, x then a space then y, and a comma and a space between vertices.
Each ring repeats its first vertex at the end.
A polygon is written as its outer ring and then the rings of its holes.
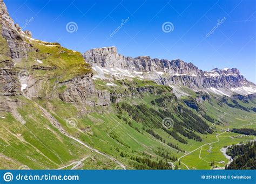
POLYGON ((171 74, 200 73, 200 70, 192 63, 185 63, 181 60, 151 59, 150 56, 125 57, 117 53, 116 47, 94 48, 86 51, 83 56, 86 62, 91 63, 92 66, 104 68, 118 67, 120 69, 133 69, 137 72, 165 71, 171 74))

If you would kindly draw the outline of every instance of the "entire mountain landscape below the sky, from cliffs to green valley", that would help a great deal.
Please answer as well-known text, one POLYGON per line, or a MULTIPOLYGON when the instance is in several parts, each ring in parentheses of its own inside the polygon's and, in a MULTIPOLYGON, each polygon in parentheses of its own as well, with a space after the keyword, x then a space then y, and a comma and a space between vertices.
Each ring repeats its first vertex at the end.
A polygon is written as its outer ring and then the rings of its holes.
POLYGON ((3 0, 0 16, 0 169, 256 169, 256 86, 238 69, 80 53, 3 0))

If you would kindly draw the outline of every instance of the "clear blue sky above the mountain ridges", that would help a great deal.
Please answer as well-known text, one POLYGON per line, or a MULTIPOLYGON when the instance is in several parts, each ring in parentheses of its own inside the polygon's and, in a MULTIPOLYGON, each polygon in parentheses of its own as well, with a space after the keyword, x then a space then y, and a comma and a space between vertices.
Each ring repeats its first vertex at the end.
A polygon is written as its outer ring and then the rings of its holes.
POLYGON ((33 38, 79 52, 116 46, 125 56, 181 59, 203 70, 238 68, 256 82, 254 0, 4 2, 33 38), (66 30, 70 22, 75 32, 66 30), (163 31, 166 22, 170 32, 163 31))

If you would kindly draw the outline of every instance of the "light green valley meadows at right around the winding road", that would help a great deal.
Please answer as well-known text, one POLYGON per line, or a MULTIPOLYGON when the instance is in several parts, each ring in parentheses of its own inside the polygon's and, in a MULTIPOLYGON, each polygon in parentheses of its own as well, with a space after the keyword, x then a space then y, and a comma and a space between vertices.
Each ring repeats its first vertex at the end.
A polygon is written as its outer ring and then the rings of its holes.
MULTIPOLYGON (((249 127, 256 128, 256 114, 253 112, 242 111, 237 108, 230 108, 227 105, 223 105, 222 107, 218 105, 217 101, 212 100, 212 104, 204 102, 203 107, 207 109, 208 115, 212 117, 217 117, 221 122, 224 122, 224 125, 217 125, 217 133, 221 133, 221 129, 226 128, 239 128, 239 127, 249 127), (254 123, 254 124, 252 124, 254 123), (245 126, 246 125, 246 126, 245 126)), ((207 138, 204 139, 204 143, 209 143, 211 141, 217 141, 215 138, 216 133, 212 135, 207 135, 207 138)), ((244 136, 240 137, 237 133, 225 132, 223 135, 219 136, 220 141, 218 143, 212 144, 212 152, 209 153, 209 146, 206 145, 202 148, 201 158, 199 158, 200 149, 187 155, 182 158, 181 161, 188 165, 190 168, 195 167, 197 169, 210 169, 212 168, 209 162, 215 161, 215 164, 219 167, 224 167, 225 164, 219 164, 218 161, 228 160, 224 157, 223 153, 220 152, 220 149, 224 146, 229 146, 232 144, 238 144, 241 141, 252 140, 255 139, 255 136, 244 136)), ((192 151, 193 149, 191 149, 192 151)))

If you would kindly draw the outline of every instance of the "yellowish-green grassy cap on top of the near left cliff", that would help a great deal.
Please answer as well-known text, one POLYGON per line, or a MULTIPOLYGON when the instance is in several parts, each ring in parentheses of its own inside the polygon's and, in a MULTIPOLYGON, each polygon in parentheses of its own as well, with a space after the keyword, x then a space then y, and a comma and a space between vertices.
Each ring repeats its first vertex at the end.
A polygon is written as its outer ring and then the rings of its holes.
POLYGON ((58 43, 45 43, 27 39, 35 51, 29 52, 28 59, 17 63, 17 67, 28 70, 37 69, 35 74, 48 78, 57 77, 59 81, 72 79, 91 72, 91 67, 84 61, 82 54, 60 46, 58 43), (39 62, 37 62, 39 60, 39 62), (41 61, 41 62, 40 62, 41 61), (48 69, 45 73, 44 68, 48 69), (49 70, 52 69, 52 70, 49 70))

